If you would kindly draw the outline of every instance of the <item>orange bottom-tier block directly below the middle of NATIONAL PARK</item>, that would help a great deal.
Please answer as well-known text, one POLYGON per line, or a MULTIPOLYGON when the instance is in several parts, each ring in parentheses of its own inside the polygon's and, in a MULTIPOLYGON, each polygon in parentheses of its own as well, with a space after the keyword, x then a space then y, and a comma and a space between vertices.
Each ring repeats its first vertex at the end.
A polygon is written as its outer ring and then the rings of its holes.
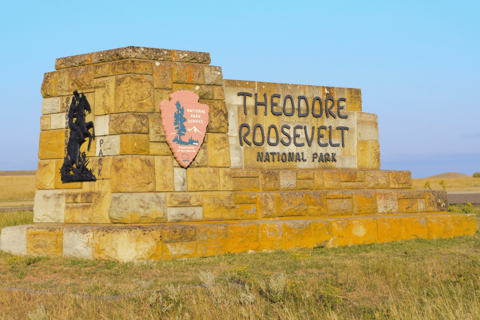
POLYGON ((283 223, 284 249, 313 247, 310 221, 290 220, 283 223))

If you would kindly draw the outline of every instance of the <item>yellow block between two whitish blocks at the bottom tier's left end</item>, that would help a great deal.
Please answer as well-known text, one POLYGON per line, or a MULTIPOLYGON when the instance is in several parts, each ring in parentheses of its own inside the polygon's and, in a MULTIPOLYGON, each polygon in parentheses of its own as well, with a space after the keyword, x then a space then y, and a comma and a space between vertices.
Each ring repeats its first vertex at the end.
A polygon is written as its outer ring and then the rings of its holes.
POLYGON ((61 256, 62 230, 56 227, 33 226, 26 231, 26 254, 61 256))

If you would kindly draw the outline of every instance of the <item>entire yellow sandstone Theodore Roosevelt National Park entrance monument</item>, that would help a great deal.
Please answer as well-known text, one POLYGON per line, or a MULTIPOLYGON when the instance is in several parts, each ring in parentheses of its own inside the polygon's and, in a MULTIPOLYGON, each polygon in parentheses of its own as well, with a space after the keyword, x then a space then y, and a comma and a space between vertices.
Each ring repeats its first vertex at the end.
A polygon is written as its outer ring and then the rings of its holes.
POLYGON ((134 46, 56 59, 41 85, 34 224, 4 227, 0 249, 156 261, 475 232, 445 191, 380 169, 360 89, 228 80, 209 63, 134 46), (95 143, 79 151, 96 180, 62 183, 75 91, 91 108, 95 143))

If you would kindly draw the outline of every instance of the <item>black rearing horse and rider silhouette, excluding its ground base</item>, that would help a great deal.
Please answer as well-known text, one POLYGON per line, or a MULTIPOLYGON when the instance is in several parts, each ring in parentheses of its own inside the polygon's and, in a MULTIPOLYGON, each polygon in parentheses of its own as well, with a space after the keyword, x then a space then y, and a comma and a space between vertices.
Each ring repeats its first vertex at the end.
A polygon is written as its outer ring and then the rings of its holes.
MULTIPOLYGON (((70 136, 66 145, 66 152, 69 157, 67 165, 73 169, 73 163, 75 163, 76 170, 80 170, 80 146, 85 142, 85 138, 88 138, 88 148, 90 151, 91 141, 95 139, 95 128, 93 122, 85 122, 86 112, 90 113, 90 104, 85 98, 85 95, 78 93, 77 90, 73 92, 73 98, 71 99, 70 108, 68 109, 68 127, 70 128, 70 136), (75 121, 73 121, 75 118, 75 121), (90 134, 89 129, 92 129, 90 134)), ((74 171, 74 170, 73 170, 74 171)))

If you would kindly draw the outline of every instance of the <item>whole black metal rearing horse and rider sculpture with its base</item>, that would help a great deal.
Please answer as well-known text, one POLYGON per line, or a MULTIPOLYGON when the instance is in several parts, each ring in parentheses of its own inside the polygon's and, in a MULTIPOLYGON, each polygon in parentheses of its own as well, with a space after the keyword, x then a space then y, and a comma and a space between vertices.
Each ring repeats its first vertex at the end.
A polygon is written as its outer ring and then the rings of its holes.
POLYGON ((60 168, 61 180, 63 182, 96 180, 92 169, 86 167, 88 160, 85 152, 80 154, 80 146, 85 142, 85 139, 88 138, 88 151, 90 150, 91 141, 95 139, 93 122, 85 121, 86 112, 91 112, 90 104, 83 93, 79 94, 75 90, 68 109, 70 136, 66 145, 67 154, 60 168), (74 121, 73 118, 75 118, 74 121), (90 129, 92 129, 92 133, 90 133, 90 129))

